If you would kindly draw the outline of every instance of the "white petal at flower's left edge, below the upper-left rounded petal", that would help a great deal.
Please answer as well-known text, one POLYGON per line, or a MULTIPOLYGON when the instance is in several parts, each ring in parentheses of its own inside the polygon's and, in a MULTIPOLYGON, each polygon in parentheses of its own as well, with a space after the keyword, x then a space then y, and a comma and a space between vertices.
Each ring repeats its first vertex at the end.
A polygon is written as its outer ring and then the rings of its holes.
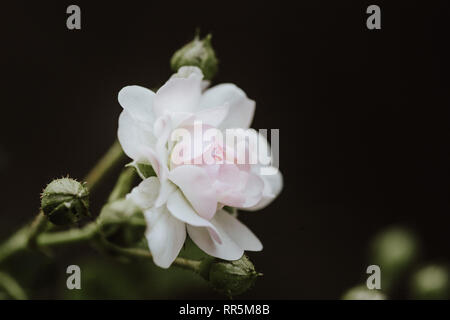
POLYGON ((145 149, 152 149, 156 144, 156 138, 153 133, 133 120, 125 110, 122 111, 119 117, 117 136, 126 155, 136 161, 148 158, 145 149))

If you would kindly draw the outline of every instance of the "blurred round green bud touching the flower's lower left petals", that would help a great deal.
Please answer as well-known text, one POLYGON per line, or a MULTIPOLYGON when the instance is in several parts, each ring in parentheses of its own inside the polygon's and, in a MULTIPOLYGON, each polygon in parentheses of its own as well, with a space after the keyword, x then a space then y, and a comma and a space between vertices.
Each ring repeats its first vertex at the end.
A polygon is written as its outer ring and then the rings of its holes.
POLYGON ((127 199, 105 205, 98 217, 98 223, 108 241, 124 247, 139 242, 147 228, 142 210, 127 199))

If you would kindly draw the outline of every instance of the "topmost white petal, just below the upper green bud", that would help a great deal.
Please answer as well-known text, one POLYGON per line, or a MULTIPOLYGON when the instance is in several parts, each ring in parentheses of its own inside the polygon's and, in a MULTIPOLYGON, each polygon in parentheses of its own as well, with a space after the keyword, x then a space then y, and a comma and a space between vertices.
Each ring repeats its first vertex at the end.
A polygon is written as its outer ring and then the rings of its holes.
POLYGON ((157 116, 172 112, 192 112, 197 107, 203 74, 195 67, 181 69, 156 92, 153 111, 157 116))

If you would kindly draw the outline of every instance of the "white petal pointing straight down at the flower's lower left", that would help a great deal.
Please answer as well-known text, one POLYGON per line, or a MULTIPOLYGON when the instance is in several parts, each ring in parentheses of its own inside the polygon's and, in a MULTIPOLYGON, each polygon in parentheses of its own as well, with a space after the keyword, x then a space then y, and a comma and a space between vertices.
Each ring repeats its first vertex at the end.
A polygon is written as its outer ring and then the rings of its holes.
POLYGON ((186 240, 185 224, 173 217, 165 207, 145 212, 146 238, 153 261, 168 268, 176 259, 186 240))

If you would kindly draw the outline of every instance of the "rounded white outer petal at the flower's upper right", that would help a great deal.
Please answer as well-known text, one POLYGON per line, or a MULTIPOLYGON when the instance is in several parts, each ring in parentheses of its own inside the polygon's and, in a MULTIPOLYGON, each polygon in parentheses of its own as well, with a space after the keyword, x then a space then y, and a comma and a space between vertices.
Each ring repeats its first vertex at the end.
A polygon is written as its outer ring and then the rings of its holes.
POLYGON ((255 113, 255 101, 247 98, 244 91, 231 83, 214 86, 205 91, 200 100, 199 109, 218 107, 228 104, 230 110, 220 128, 250 127, 255 113))

